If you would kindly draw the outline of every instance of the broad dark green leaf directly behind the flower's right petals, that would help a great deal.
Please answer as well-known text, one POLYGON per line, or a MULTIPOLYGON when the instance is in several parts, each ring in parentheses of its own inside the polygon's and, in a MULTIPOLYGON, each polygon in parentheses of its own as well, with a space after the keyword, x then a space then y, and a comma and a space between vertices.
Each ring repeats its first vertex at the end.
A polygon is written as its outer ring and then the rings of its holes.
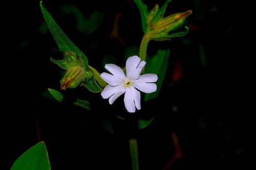
POLYGON ((170 55, 170 50, 168 49, 168 50, 158 50, 157 54, 154 57, 150 57, 150 56, 146 57, 147 66, 146 66, 145 72, 157 74, 158 80, 156 82, 157 91, 153 93, 146 93, 144 95, 145 102, 151 99, 157 98, 165 77, 169 55, 170 55))

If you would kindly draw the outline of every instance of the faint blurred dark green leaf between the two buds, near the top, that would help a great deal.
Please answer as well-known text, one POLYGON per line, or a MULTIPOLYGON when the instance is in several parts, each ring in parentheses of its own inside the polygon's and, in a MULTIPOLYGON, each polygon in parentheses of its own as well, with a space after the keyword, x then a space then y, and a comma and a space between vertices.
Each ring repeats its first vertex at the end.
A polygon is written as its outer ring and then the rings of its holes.
POLYGON ((60 11, 65 15, 73 15, 76 19, 77 30, 86 35, 94 33, 104 20, 104 14, 98 11, 92 12, 89 18, 84 18, 82 11, 72 4, 62 5, 60 11))

